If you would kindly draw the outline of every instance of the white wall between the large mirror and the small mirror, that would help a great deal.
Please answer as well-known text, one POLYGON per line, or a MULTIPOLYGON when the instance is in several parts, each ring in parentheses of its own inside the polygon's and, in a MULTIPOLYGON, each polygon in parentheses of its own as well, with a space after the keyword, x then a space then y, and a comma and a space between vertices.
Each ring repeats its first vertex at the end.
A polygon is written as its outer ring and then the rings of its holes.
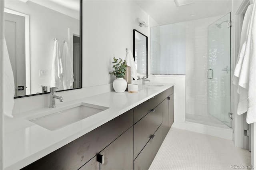
POLYGON ((133 1, 83 1, 83 87, 114 81, 113 57, 133 51, 133 29, 149 36, 136 18, 147 22, 148 14, 133 1))

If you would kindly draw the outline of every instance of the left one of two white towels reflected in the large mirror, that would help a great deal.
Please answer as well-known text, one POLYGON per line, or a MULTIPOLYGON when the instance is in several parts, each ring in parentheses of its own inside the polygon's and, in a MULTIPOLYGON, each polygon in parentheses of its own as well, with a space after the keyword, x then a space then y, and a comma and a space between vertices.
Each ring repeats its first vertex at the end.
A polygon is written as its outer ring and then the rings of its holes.
POLYGON ((52 79, 50 87, 59 87, 62 78, 62 61, 60 58, 60 49, 58 47, 58 40, 54 41, 54 49, 52 55, 52 79))

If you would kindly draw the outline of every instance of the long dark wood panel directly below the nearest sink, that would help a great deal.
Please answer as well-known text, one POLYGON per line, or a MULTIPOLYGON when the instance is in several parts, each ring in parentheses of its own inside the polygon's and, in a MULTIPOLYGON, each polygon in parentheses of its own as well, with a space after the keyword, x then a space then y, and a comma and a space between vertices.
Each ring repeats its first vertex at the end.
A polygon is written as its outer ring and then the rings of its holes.
POLYGON ((22 170, 79 169, 132 125, 133 109, 22 168, 22 170))

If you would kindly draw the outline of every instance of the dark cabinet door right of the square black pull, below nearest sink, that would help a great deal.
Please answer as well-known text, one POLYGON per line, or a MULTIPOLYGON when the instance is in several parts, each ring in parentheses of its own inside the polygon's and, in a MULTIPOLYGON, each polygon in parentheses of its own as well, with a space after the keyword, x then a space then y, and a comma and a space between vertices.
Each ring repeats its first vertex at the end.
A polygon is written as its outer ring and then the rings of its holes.
POLYGON ((133 127, 118 137, 101 155, 104 156, 100 170, 132 170, 133 169, 133 127))

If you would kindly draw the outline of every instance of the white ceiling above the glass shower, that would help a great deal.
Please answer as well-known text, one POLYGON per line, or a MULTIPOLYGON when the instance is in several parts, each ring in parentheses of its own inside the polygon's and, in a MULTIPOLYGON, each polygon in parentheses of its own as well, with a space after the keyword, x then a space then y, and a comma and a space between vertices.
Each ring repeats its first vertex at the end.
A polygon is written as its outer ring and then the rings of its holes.
POLYGON ((174 0, 134 0, 134 2, 159 25, 224 15, 230 12, 228 8, 232 5, 231 0, 191 0, 193 3, 179 7, 174 0))

